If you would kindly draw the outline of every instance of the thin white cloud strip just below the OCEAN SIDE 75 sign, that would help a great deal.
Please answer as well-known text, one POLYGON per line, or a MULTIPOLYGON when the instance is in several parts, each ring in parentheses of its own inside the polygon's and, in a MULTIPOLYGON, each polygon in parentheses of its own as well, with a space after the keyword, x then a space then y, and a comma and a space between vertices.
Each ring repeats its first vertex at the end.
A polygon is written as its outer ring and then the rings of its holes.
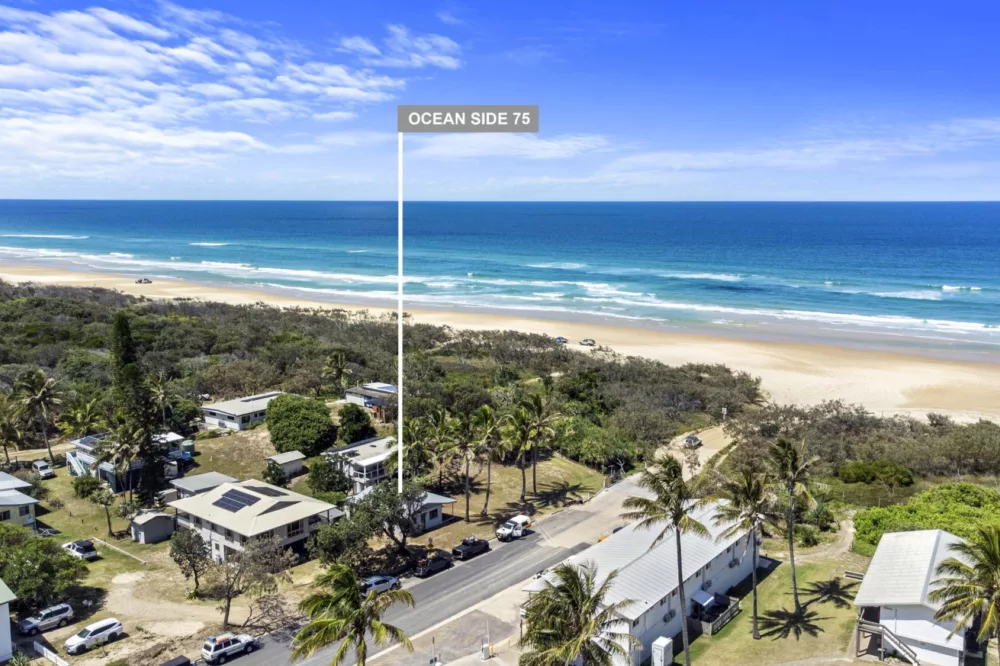
POLYGON ((529 160, 556 160, 609 149, 602 136, 591 134, 541 139, 532 134, 438 134, 414 137, 417 157, 462 159, 470 157, 512 157, 529 160))

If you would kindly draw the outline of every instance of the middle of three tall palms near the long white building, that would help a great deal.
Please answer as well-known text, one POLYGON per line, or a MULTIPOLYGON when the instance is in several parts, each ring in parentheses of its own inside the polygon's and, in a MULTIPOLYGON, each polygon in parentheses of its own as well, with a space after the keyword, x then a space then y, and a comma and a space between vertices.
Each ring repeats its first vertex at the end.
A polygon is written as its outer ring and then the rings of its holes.
POLYGON ((763 538, 765 524, 776 525, 781 517, 776 509, 772 492, 773 483, 767 470, 756 470, 747 465, 732 476, 721 476, 715 493, 708 500, 719 502, 715 510, 715 525, 727 525, 719 539, 732 539, 746 532, 747 545, 753 558, 753 637, 760 640, 757 626, 757 544, 763 538))

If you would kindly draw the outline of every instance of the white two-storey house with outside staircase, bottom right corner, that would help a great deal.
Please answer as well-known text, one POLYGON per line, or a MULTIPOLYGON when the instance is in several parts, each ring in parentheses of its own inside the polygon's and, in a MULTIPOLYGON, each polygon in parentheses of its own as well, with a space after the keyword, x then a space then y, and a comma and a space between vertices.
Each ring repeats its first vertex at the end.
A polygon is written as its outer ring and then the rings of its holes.
POLYGON ((937 566, 956 556, 951 547, 960 542, 943 530, 883 534, 854 599, 859 638, 879 637, 887 653, 921 666, 960 666, 970 647, 978 652, 965 628, 955 631, 954 622, 934 619, 941 606, 929 599, 937 566))

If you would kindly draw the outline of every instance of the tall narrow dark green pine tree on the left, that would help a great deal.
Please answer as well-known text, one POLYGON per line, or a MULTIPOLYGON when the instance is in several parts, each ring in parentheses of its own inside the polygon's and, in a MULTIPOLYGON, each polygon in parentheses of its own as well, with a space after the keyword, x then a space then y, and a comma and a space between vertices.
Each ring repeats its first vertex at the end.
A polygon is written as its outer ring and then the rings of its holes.
POLYGON ((116 412, 126 421, 128 430, 139 438, 138 457, 142 462, 139 490, 143 501, 152 504, 163 485, 161 452, 153 443, 157 423, 156 405, 146 382, 146 373, 139 362, 131 322, 123 311, 115 315, 110 347, 112 395, 116 412))

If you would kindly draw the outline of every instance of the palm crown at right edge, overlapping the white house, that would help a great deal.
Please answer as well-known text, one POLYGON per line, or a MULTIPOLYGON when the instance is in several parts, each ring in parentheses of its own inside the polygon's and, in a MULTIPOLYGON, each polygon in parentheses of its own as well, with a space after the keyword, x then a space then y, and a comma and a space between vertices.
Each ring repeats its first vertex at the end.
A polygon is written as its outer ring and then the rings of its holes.
POLYGON ((1000 527, 980 527, 971 541, 951 550, 958 557, 938 565, 939 578, 931 585, 930 601, 942 604, 934 617, 955 622, 948 638, 980 621, 976 640, 995 639, 1000 654, 1000 527))

